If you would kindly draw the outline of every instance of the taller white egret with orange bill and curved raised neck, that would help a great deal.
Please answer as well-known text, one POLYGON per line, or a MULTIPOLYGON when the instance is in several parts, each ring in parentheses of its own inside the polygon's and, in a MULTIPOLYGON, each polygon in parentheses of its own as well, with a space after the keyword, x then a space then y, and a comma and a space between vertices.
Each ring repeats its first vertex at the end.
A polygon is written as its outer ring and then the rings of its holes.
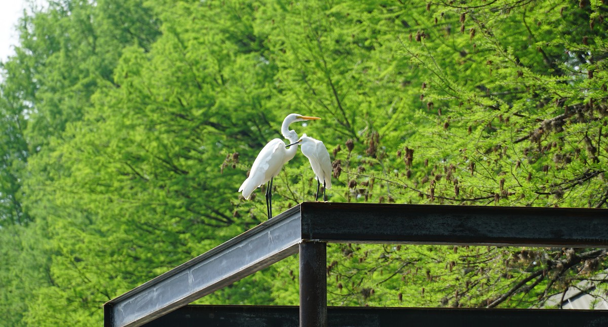
MULTIPOLYGON (((320 120, 319 117, 302 116, 297 113, 291 113, 285 117, 281 126, 283 137, 294 143, 298 140, 298 134, 295 130, 289 130, 289 124, 296 121, 305 120, 320 120)), ((281 172, 283 164, 294 158, 298 150, 297 146, 286 149, 285 142, 280 138, 271 140, 255 158, 254 164, 251 166, 249 177, 241 184, 238 191, 243 192, 243 197, 249 199, 255 189, 268 183, 266 187, 266 209, 268 211, 268 219, 272 218, 272 180, 278 173, 281 172)))

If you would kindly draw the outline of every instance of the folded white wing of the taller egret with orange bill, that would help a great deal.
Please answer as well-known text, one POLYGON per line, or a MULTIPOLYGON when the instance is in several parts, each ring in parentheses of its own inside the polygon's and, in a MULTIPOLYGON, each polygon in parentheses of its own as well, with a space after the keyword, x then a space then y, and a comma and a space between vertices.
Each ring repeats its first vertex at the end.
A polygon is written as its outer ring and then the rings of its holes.
POLYGON ((283 167, 285 157, 285 142, 275 138, 266 144, 255 158, 251 166, 249 177, 241 184, 238 191, 243 192, 243 197, 248 199, 255 189, 268 182, 272 177, 278 175, 283 167))

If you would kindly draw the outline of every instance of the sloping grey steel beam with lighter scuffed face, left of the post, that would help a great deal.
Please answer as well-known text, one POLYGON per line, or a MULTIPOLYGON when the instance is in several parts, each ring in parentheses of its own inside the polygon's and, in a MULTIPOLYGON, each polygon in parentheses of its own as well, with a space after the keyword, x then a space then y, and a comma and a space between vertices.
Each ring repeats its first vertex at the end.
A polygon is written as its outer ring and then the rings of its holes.
POLYGON ((140 326, 297 253, 300 208, 238 235, 106 303, 105 327, 140 326))

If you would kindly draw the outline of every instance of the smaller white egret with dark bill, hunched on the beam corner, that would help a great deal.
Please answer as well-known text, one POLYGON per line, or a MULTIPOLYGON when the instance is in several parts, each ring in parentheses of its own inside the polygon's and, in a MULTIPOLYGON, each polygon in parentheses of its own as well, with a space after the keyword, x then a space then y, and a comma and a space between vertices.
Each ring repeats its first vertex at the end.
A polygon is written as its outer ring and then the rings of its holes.
POLYGON ((313 172, 317 176, 317 195, 314 200, 317 201, 319 198, 319 187, 321 181, 323 181, 323 201, 327 201, 325 195, 325 189, 331 189, 331 160, 330 153, 327 152, 325 144, 322 141, 316 140, 315 138, 307 137, 306 134, 302 134, 300 140, 289 144, 300 144, 302 147, 302 153, 310 161, 310 166, 313 167, 313 172))

